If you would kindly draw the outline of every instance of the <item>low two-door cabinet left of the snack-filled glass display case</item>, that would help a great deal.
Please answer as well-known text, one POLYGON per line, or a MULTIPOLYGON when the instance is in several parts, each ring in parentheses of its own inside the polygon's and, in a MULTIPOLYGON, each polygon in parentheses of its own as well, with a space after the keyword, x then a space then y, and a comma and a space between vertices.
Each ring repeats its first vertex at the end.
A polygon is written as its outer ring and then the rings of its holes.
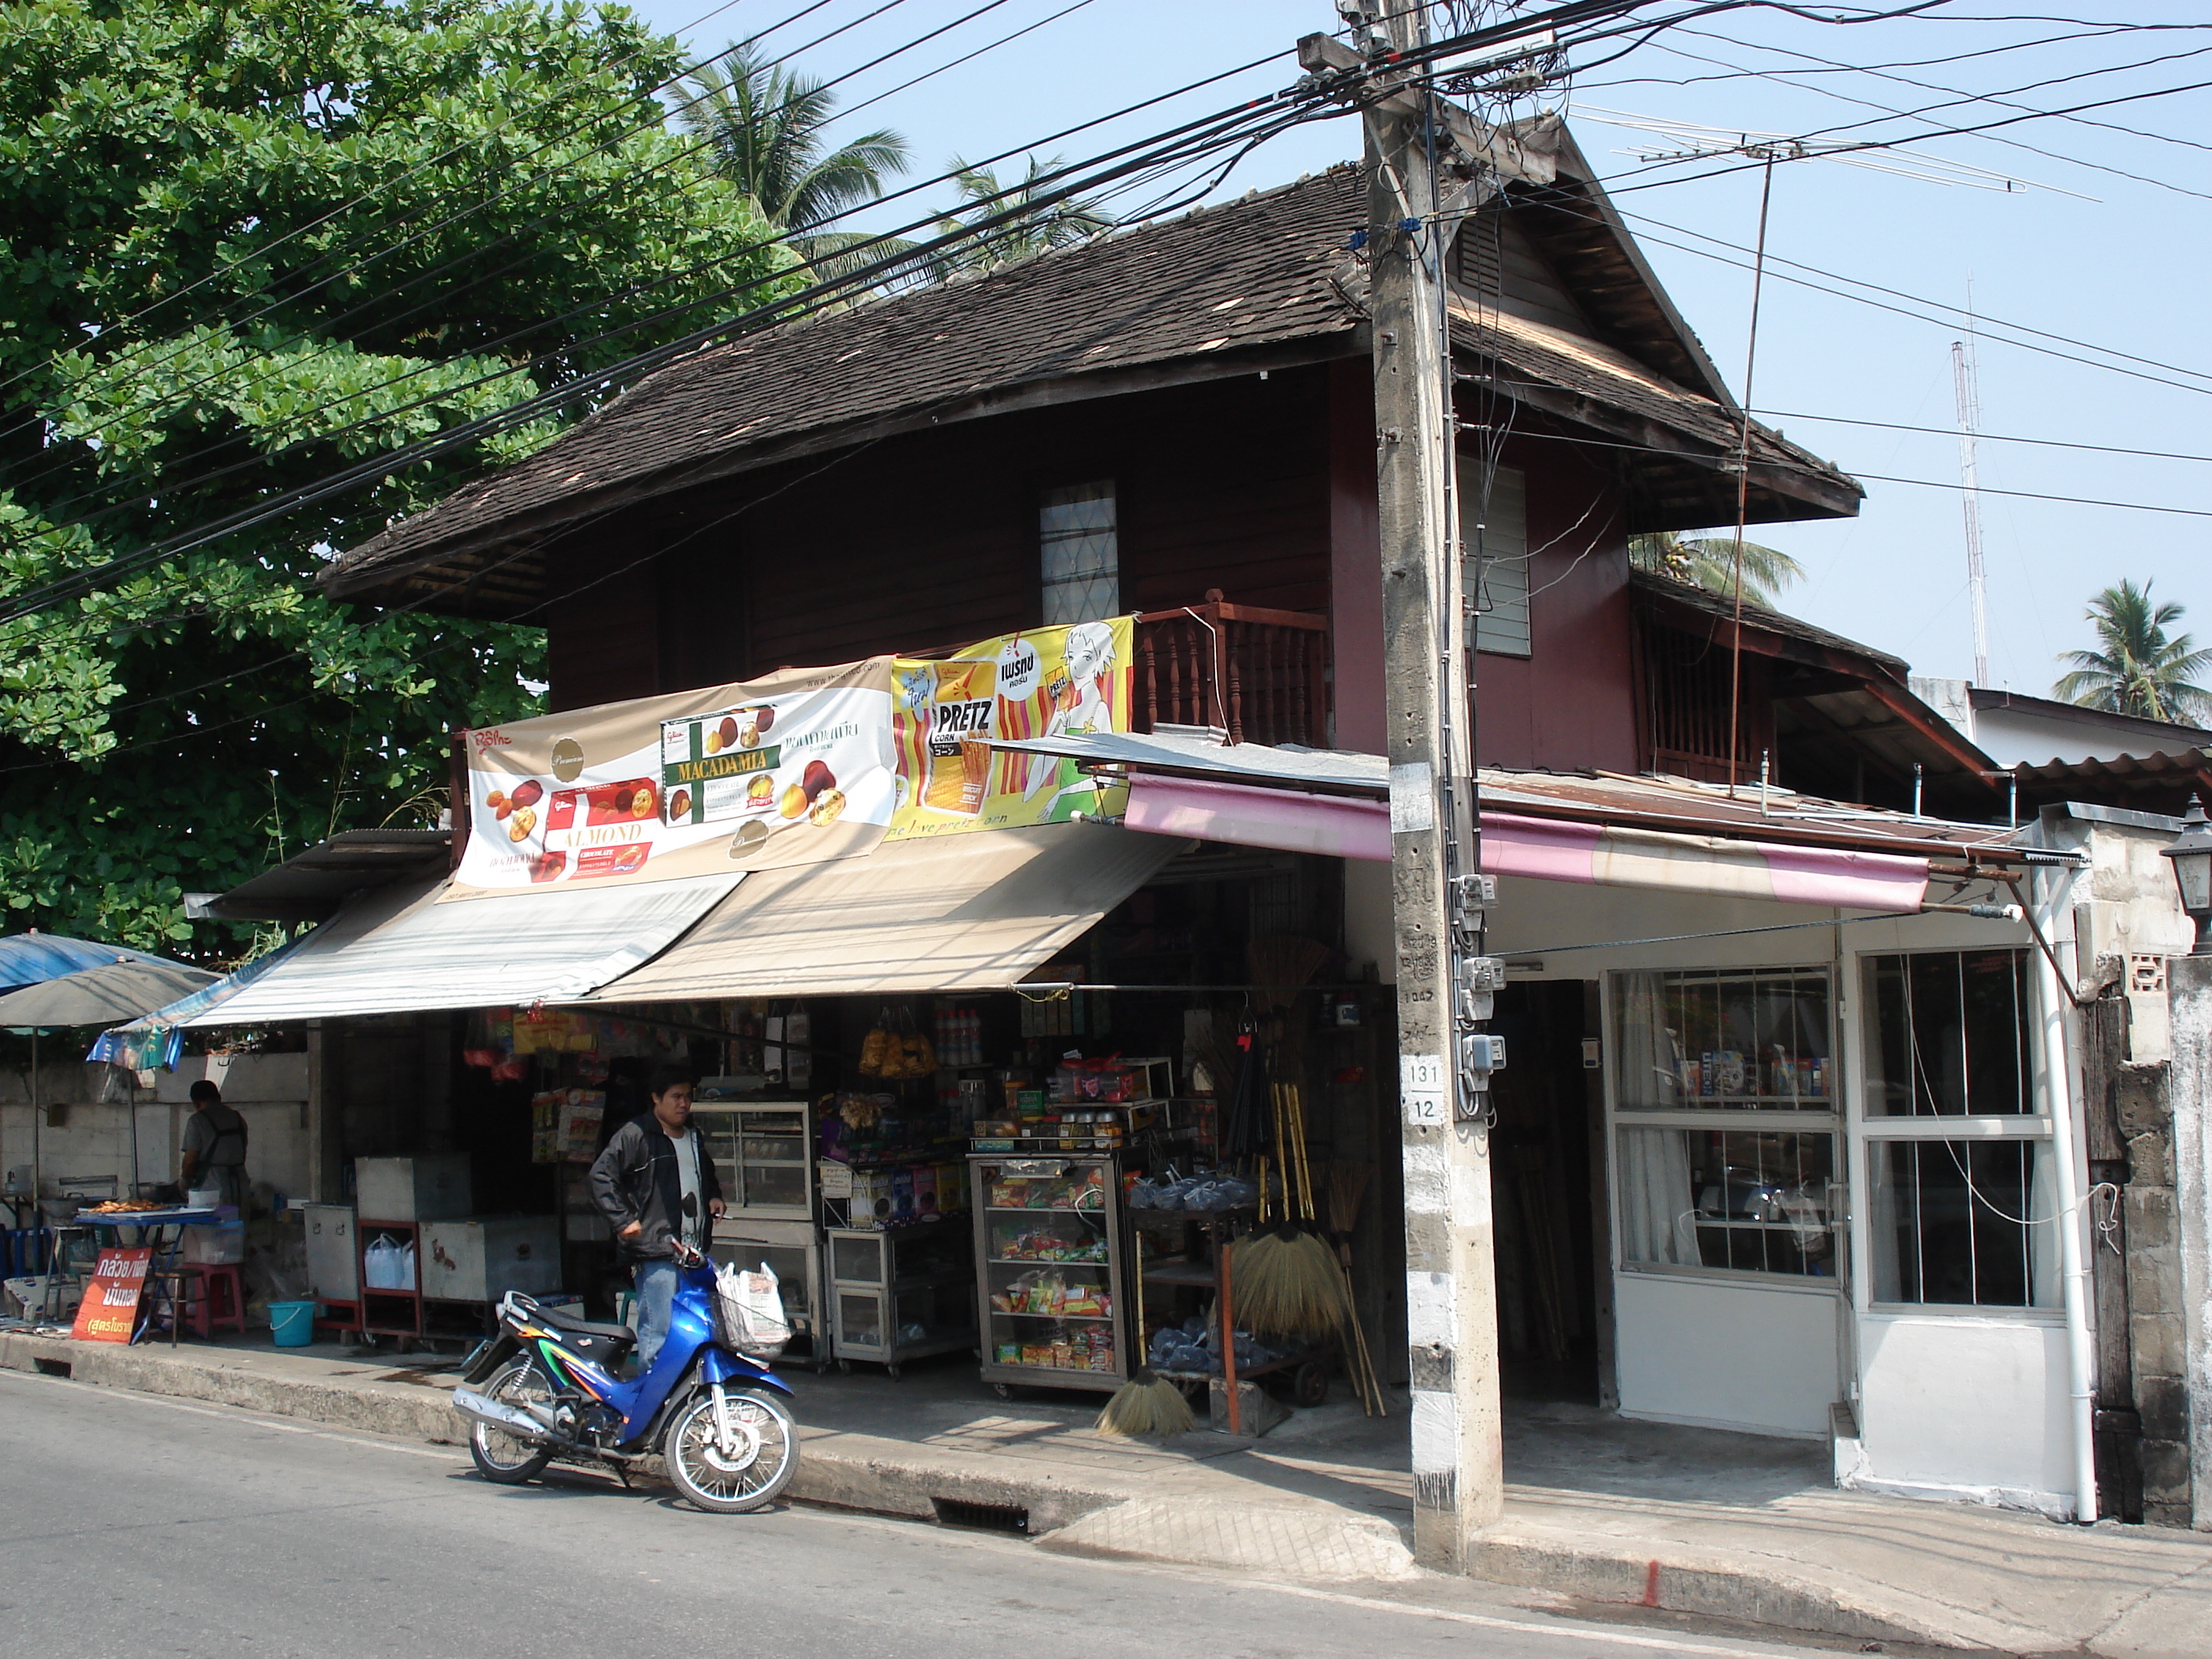
POLYGON ((898 1376, 907 1360, 975 1347, 975 1261, 962 1219, 832 1228, 827 1248, 841 1371, 867 1360, 898 1376))

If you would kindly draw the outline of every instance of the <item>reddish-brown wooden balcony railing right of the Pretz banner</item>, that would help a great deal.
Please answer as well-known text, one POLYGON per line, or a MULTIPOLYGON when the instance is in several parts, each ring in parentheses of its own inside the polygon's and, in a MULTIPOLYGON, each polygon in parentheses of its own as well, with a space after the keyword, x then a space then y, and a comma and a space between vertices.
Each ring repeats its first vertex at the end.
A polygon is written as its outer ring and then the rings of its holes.
POLYGON ((1137 617, 1133 726, 1203 726, 1230 743, 1329 741, 1329 619, 1307 611, 1206 604, 1137 617))

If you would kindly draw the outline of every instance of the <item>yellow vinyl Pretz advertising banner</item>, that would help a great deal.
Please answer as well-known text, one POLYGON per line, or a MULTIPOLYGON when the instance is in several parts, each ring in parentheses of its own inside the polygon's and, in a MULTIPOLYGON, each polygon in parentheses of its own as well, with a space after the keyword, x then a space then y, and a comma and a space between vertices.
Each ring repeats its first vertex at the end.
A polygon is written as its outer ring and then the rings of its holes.
POLYGON ((889 838, 1119 812, 1124 785, 1102 787, 1075 761, 995 752, 989 739, 1126 732, 1135 637, 1133 617, 1113 617, 980 639, 949 657, 898 657, 889 838))

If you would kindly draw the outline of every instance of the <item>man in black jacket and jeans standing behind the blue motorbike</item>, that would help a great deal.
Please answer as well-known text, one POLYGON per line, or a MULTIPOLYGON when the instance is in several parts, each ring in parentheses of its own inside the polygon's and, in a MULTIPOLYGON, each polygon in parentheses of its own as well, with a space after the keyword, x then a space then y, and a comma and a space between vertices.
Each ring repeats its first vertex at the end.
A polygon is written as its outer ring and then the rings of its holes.
POLYGON ((653 1110, 617 1128, 591 1166, 591 1199, 615 1230, 615 1254, 633 1267, 637 1363, 646 1371, 668 1340, 675 1241, 706 1250, 708 1223, 721 1214, 714 1159, 690 1124, 690 1073, 661 1066, 648 1088, 653 1110))

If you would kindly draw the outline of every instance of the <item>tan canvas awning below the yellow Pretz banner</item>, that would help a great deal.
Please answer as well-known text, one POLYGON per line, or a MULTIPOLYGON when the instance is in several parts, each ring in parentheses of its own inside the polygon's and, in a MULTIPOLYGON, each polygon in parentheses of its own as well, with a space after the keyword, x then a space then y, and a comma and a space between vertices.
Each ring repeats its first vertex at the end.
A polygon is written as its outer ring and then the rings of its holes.
POLYGON ((1166 836, 1053 823, 759 872, 670 951, 575 1000, 1002 991, 1177 852, 1166 836))

